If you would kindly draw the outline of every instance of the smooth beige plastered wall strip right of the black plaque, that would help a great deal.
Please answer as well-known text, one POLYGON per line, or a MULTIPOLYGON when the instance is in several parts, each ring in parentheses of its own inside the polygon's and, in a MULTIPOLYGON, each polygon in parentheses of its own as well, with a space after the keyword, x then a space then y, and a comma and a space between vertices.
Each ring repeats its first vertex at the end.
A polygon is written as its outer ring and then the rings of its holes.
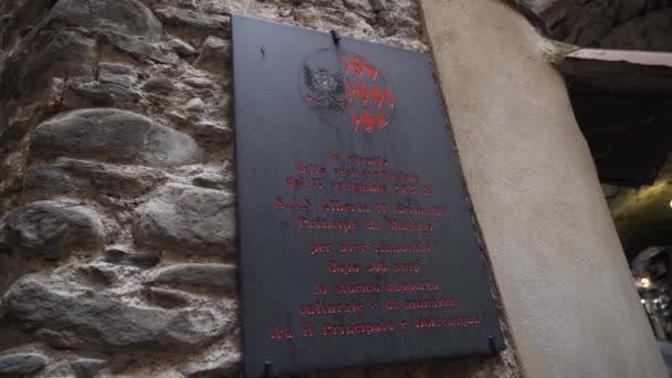
POLYGON ((421 0, 526 377, 665 377, 548 42, 497 0, 421 0))

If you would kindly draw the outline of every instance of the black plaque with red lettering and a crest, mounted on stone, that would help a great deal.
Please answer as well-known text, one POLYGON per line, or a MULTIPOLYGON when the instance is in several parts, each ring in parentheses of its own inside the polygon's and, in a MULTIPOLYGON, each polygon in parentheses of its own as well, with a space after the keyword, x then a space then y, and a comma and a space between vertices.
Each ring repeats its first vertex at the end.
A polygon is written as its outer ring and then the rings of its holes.
POLYGON ((503 349, 428 56, 232 28, 246 376, 503 349))

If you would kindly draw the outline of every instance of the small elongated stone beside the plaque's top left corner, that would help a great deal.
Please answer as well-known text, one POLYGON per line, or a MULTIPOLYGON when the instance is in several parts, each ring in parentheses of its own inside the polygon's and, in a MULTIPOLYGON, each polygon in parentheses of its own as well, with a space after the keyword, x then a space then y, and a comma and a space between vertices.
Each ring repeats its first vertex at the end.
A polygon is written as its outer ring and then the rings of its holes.
POLYGON ((169 27, 191 28, 225 38, 231 35, 231 19, 228 15, 203 14, 176 7, 156 9, 155 12, 164 24, 169 27))

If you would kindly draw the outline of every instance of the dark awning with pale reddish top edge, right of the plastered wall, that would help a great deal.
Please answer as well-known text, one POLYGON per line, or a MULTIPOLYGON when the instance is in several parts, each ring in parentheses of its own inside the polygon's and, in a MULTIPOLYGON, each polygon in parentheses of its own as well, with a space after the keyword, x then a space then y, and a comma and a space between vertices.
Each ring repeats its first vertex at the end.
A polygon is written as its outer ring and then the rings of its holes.
POLYGON ((672 53, 581 49, 559 69, 600 180, 652 185, 672 153, 672 53))

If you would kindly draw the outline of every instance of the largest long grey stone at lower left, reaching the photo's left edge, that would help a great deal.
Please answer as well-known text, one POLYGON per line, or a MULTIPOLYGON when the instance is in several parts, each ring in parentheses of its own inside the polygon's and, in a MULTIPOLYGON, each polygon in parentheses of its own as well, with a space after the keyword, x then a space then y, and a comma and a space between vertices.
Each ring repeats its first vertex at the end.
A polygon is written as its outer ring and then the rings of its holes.
POLYGON ((104 353, 178 351, 228 329, 229 314, 139 307, 81 284, 24 275, 2 300, 12 325, 59 347, 104 353))

